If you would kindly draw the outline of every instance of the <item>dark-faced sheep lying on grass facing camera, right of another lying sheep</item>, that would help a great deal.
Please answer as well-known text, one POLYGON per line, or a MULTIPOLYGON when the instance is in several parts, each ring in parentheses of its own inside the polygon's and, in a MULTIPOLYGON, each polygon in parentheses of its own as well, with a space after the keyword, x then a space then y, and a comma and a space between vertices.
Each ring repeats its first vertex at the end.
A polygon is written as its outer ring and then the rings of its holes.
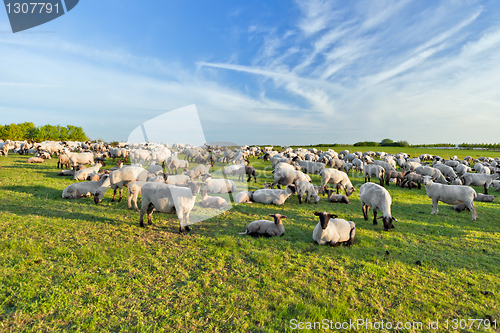
POLYGON ((313 230, 313 240, 319 245, 330 244, 337 246, 341 243, 346 246, 354 244, 356 225, 352 221, 337 218, 335 214, 314 212, 319 216, 319 222, 313 230))

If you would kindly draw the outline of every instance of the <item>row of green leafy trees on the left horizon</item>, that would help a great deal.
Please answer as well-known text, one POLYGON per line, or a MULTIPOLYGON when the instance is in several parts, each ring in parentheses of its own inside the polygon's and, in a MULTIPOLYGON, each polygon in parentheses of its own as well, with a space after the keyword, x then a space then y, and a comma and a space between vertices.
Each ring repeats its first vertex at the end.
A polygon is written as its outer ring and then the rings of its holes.
POLYGON ((87 141, 88 137, 80 126, 43 125, 32 122, 0 125, 0 139, 13 141, 87 141))

